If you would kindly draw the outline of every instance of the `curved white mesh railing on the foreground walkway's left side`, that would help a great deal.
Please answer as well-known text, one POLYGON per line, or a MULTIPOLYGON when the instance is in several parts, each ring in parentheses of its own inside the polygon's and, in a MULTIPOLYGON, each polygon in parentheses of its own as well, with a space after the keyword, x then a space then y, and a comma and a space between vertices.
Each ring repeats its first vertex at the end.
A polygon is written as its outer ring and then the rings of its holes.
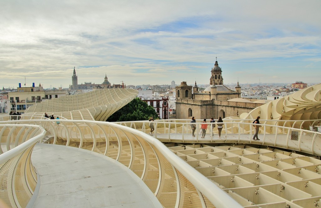
POLYGON ((5 207, 26 207, 37 184, 31 152, 46 131, 36 125, 1 125, 0 200, 5 207))

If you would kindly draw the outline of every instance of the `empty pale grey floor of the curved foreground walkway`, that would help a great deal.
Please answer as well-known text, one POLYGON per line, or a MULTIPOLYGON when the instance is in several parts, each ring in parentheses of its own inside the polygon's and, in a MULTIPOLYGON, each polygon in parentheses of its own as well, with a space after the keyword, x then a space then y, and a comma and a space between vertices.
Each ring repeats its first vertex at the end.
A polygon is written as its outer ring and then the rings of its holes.
POLYGON ((137 175, 101 154, 37 143, 31 158, 40 180, 30 207, 162 207, 137 175))

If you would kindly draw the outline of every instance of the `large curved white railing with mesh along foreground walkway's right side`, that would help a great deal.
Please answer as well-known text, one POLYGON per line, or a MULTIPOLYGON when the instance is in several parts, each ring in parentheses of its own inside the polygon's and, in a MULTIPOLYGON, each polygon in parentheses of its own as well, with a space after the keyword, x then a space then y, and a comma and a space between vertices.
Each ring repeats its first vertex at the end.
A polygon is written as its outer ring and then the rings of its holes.
POLYGON ((87 149, 121 162, 146 183, 164 207, 242 207, 150 135, 109 122, 59 121, 20 122, 45 126, 52 135, 47 143, 87 149))

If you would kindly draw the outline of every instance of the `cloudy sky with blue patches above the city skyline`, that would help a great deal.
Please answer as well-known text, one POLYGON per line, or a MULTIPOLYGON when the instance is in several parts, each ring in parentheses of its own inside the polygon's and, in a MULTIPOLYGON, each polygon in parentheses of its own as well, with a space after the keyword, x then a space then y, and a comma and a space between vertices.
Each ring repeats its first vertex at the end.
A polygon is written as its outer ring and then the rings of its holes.
POLYGON ((321 1, 0 0, 0 87, 320 82, 321 1))

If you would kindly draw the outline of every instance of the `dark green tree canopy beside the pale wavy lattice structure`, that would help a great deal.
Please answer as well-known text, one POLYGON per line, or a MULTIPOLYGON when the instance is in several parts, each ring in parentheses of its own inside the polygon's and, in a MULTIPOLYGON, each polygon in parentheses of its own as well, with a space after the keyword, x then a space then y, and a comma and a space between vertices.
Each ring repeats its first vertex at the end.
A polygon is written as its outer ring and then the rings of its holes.
POLYGON ((143 121, 148 120, 150 117, 158 118, 158 115, 152 106, 139 98, 135 98, 123 108, 120 108, 106 121, 119 122, 119 121, 143 121))

